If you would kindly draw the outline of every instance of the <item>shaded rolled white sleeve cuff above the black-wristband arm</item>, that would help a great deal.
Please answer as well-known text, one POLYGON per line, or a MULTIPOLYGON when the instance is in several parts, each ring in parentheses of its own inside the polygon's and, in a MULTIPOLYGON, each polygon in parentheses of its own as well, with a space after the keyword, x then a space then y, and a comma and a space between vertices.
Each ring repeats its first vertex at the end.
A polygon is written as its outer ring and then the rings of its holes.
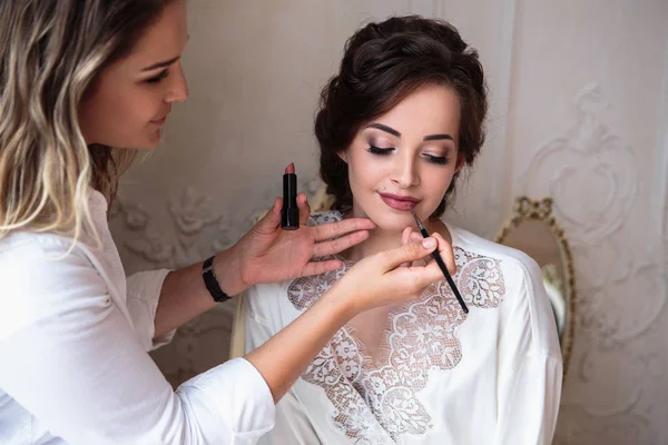
POLYGON ((156 332, 156 309, 163 283, 168 269, 139 271, 127 279, 127 305, 135 332, 145 350, 153 350, 168 344, 176 329, 154 338, 156 332))

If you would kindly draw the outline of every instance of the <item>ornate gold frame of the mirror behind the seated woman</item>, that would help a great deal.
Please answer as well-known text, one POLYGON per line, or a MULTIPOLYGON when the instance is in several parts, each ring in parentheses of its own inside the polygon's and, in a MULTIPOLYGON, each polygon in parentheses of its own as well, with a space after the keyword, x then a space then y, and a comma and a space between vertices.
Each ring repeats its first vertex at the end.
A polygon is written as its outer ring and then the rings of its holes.
POLYGON ((552 198, 546 197, 539 200, 532 200, 527 196, 520 196, 515 199, 513 215, 494 237, 494 241, 503 244, 508 233, 517 228, 522 221, 538 220, 544 222, 554 235, 563 261, 567 274, 567 304, 566 304, 566 327, 561 338, 561 355, 563 356, 563 378, 568 372, 568 366, 571 358, 573 338, 576 330, 576 267, 573 265, 573 256, 566 239, 563 228, 557 222, 552 216, 552 198))

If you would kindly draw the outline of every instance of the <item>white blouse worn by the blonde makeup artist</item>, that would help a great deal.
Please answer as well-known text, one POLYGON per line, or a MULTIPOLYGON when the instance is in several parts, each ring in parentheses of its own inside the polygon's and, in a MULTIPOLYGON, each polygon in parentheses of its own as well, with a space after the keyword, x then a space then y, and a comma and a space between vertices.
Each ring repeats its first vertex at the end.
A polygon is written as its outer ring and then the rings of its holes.
POLYGON ((0 444, 255 444, 273 397, 243 358, 171 389, 147 350, 167 270, 126 281, 94 191, 91 234, 0 240, 0 444))

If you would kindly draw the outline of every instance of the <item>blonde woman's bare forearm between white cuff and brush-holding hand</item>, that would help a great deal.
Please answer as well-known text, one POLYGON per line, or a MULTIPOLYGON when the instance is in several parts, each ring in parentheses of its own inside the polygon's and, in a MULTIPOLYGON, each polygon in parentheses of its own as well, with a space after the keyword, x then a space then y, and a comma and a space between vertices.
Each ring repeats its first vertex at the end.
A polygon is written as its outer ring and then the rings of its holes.
POLYGON ((345 298, 332 289, 297 319, 245 358, 266 380, 278 402, 315 356, 351 317, 345 298))

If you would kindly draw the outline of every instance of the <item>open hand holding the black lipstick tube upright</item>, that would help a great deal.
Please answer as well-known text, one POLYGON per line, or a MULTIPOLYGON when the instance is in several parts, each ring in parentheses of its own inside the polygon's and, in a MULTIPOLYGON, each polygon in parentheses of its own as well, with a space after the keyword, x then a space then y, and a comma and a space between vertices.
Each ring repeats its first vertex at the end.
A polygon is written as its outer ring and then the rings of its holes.
MULTIPOLYGON (((314 261, 314 258, 334 255, 369 238, 375 225, 365 218, 308 227, 311 208, 306 195, 297 196, 299 228, 281 228, 281 207, 277 198, 274 207, 233 248, 232 258, 237 261, 238 283, 230 286, 237 294, 259 283, 276 283, 307 275, 317 275, 342 267, 338 260, 314 261), (336 239, 332 239, 336 238, 336 239)), ((225 271, 216 271, 219 277, 225 271)))

